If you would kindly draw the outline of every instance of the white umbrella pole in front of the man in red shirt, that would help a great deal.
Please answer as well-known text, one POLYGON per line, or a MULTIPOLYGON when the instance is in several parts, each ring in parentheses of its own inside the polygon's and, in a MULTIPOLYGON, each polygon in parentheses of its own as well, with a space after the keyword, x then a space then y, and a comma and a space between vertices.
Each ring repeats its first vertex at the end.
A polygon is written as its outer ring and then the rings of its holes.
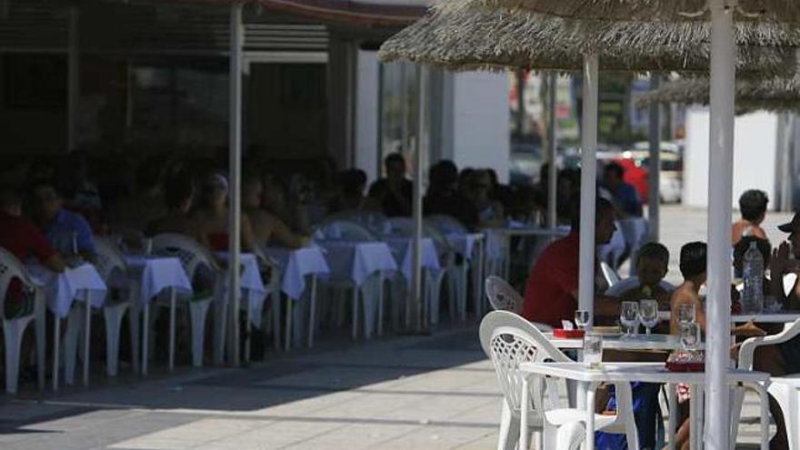
POLYGON ((595 197, 597 178, 597 54, 584 55, 581 135, 581 229, 578 307, 595 314, 595 197))

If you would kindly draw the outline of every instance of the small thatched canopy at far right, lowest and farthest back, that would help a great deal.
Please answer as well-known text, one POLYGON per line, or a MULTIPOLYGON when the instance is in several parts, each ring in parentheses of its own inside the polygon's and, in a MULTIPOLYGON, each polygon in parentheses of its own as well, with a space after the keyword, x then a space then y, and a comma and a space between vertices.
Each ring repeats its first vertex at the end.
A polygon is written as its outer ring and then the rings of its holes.
MULTIPOLYGON (((708 105, 709 81, 706 77, 670 81, 636 99, 636 106, 654 103, 708 105)), ((796 111, 800 107, 800 77, 745 79, 736 82, 736 112, 744 114, 758 109, 796 111)))

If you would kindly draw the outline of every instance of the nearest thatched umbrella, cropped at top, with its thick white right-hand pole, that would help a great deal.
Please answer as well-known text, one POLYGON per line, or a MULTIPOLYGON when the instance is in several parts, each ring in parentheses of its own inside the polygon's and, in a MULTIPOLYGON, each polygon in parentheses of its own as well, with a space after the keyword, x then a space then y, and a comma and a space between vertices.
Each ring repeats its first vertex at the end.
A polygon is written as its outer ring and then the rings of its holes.
MULTIPOLYGON (((761 21, 798 23, 800 2, 795 0, 470 0, 458 2, 452 7, 463 7, 465 4, 489 8, 506 6, 516 10, 527 9, 574 19, 696 21, 705 20, 710 16, 712 38, 707 298, 711 301, 706 307, 708 333, 705 345, 705 369, 708 376, 705 390, 708 393, 708 401, 705 404, 705 416, 715 417, 715 420, 710 421, 705 436, 695 439, 695 444, 705 443, 714 450, 727 450, 731 430, 730 417, 727 415, 730 391, 726 377, 731 318, 729 305, 735 114, 734 23, 735 21, 751 25, 761 21), (721 417, 717 419, 720 415, 721 417)), ((599 43, 595 44, 595 48, 600 48, 599 43)), ((587 58, 585 66, 587 74, 596 77, 595 57, 587 58)), ((591 144, 591 141, 587 142, 591 144)), ((582 184, 582 189, 591 187, 582 184)), ((585 197, 592 196, 594 195, 585 195, 585 197)), ((587 213, 587 209, 590 208, 582 208, 582 220, 593 218, 593 214, 587 213)), ((590 267, 590 263, 585 261, 586 257, 587 255, 582 253, 582 268, 590 267)), ((588 284, 580 286, 582 290, 585 287, 591 289, 588 284)), ((594 417, 587 415, 586 421, 587 426, 593 425, 594 417)), ((696 431, 694 434, 697 437, 696 431)), ((594 448, 590 434, 586 435, 586 447, 594 448)))

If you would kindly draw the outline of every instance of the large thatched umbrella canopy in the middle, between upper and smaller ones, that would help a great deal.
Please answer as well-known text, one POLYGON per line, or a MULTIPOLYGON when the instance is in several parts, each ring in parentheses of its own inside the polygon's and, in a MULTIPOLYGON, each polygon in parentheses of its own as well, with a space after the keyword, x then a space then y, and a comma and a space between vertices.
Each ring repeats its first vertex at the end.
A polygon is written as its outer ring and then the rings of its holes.
MULTIPOLYGON (((469 4, 450 0, 435 5, 387 40, 380 58, 456 70, 573 71, 581 68, 585 53, 597 48, 601 70, 708 72, 710 29, 703 22, 585 22, 469 4)), ((786 25, 742 25, 736 39, 737 70, 781 74, 792 66, 800 31, 786 25)))

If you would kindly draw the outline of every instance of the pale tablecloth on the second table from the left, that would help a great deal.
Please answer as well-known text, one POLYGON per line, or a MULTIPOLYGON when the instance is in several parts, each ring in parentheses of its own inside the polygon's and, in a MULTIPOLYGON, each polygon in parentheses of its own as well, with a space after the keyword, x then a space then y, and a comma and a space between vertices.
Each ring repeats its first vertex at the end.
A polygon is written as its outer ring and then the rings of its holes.
POLYGON ((178 258, 125 255, 125 263, 135 277, 142 305, 167 288, 175 288, 178 293, 185 295, 192 294, 192 283, 178 258))

